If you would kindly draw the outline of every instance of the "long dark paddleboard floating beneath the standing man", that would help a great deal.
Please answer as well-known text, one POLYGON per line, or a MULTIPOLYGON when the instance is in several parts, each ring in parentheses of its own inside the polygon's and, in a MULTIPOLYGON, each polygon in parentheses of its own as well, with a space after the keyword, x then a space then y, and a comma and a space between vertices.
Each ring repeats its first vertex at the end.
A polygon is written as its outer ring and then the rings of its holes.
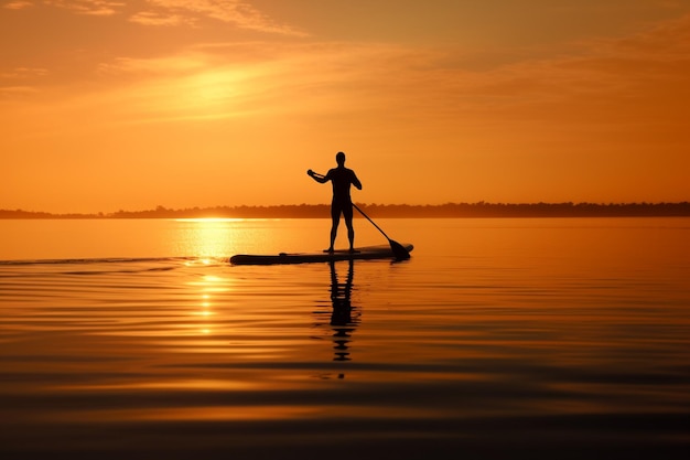
MULTIPOLYGON (((409 243, 403 243, 408 253, 413 249, 409 243)), ((337 260, 357 259, 391 259, 395 254, 390 245, 365 246, 351 253, 348 249, 337 249, 333 253, 280 253, 280 254, 237 254, 230 257, 233 265, 273 265, 273 264, 312 264, 337 260)))

